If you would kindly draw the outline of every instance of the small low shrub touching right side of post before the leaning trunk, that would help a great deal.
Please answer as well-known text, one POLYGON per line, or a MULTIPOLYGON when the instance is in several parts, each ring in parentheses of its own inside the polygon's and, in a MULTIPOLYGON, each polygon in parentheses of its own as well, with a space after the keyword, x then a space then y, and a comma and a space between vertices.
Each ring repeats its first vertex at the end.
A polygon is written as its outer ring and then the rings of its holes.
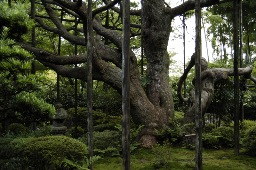
POLYGON ((210 134, 203 134, 203 147, 204 148, 214 148, 214 149, 219 149, 220 144, 219 144, 219 136, 213 136, 210 134))

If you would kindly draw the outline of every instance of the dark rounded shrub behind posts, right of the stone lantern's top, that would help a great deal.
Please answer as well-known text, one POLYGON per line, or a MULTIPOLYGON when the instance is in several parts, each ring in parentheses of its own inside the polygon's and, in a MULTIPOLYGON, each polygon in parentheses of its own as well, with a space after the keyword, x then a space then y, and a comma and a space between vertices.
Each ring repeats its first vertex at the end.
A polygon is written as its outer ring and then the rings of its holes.
MULTIPOLYGON (((66 110, 69 115, 73 117, 73 122, 75 122, 75 108, 66 110)), ((92 126, 96 126, 102 123, 105 119, 106 114, 99 111, 92 111, 92 126)), ((87 132, 87 108, 77 107, 77 126, 80 126, 87 132)))

